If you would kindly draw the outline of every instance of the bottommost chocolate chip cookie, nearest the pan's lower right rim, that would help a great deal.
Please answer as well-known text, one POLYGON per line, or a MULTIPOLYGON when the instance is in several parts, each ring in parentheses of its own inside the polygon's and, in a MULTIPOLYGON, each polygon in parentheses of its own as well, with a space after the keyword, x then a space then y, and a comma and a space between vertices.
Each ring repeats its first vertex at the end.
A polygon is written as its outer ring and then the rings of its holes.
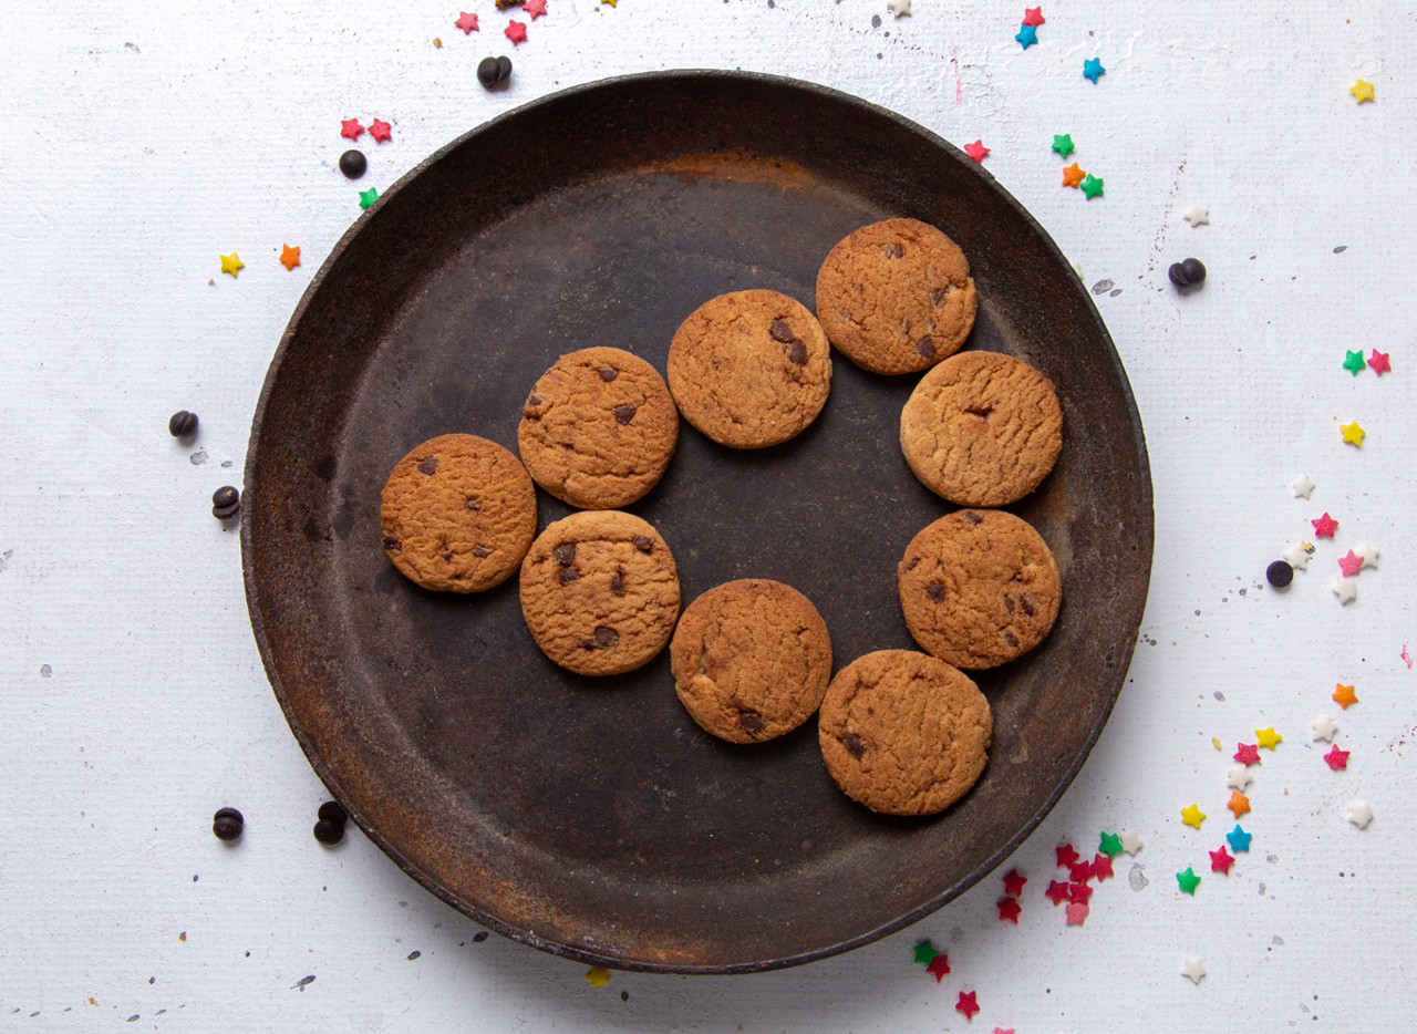
POLYGON ((873 812, 934 814, 989 761, 993 715, 964 671, 914 650, 877 650, 836 673, 818 737, 826 771, 873 812))

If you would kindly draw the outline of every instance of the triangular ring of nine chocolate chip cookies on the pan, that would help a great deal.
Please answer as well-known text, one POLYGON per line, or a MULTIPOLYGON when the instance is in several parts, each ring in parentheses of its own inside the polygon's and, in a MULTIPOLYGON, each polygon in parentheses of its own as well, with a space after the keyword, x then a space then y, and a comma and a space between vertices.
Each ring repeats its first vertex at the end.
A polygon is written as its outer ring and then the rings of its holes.
POLYGON ((976 306, 969 262, 938 228, 862 227, 823 258, 815 312, 775 290, 706 299, 673 334, 663 375, 622 348, 557 358, 521 408, 520 458, 468 433, 415 445, 383 490, 383 548, 434 592, 483 592, 519 572, 521 615, 555 664, 616 676, 667 646, 665 693, 704 732, 752 749, 818 715, 823 765, 850 799, 942 812, 979 779, 993 732, 966 671, 1039 646, 1063 598, 1047 542, 998 509, 1047 477, 1063 411, 1026 363, 961 350, 976 306), (874 650, 835 676, 826 622, 791 585, 727 581, 680 613, 670 542, 623 510, 665 476, 680 416, 728 449, 806 431, 832 391, 833 347, 873 374, 924 374, 901 409, 901 453, 961 507, 921 528, 897 565, 921 650, 874 650), (575 507, 540 534, 534 486, 575 507))

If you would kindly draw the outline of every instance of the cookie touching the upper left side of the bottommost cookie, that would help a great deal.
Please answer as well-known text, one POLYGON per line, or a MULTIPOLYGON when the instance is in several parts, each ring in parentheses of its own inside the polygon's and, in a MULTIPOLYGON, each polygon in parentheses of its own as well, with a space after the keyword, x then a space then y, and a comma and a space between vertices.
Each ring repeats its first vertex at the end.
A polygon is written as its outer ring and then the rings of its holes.
POLYGON ((757 744, 816 711, 832 677, 832 639, 791 585, 743 578, 684 608, 669 663, 680 703, 706 732, 757 744))

